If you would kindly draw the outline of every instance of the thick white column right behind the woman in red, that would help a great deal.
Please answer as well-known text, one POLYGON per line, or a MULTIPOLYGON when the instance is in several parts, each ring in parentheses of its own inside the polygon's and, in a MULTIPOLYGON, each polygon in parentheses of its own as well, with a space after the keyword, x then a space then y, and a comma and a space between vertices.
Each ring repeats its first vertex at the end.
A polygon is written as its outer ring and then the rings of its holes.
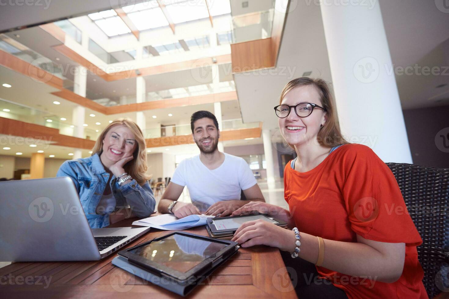
POLYGON ((412 163, 379 1, 339 2, 322 4, 321 15, 343 134, 384 162, 412 163))

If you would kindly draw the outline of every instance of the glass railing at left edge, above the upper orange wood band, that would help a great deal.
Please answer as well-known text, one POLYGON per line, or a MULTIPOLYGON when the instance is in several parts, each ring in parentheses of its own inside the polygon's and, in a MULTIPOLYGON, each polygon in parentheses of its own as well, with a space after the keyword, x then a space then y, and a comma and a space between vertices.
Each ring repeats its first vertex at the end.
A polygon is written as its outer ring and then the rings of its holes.
POLYGON ((11 39, 9 36, 0 34, 0 49, 16 56, 17 58, 28 62, 31 65, 35 65, 40 69, 43 69, 47 73, 53 74, 59 78, 65 79, 62 75, 62 70, 59 65, 55 64, 51 59, 40 55, 39 53, 31 50, 30 48, 22 45, 15 39, 11 39))

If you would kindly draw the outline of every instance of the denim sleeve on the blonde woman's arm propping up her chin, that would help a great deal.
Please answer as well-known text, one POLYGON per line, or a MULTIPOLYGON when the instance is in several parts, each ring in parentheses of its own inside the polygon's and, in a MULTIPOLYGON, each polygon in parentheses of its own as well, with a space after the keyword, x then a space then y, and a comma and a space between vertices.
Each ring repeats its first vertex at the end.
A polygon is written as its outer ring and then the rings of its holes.
POLYGON ((132 180, 130 183, 120 186, 119 190, 122 192, 123 197, 126 198, 132 213, 136 217, 150 217, 154 213, 156 200, 148 181, 141 186, 136 180, 132 180))

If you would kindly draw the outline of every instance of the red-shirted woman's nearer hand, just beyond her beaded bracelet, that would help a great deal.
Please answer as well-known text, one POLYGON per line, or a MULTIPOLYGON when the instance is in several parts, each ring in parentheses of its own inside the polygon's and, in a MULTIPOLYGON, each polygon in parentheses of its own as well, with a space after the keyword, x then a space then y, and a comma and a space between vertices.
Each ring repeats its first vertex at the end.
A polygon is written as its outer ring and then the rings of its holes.
POLYGON ((283 251, 295 251, 295 233, 263 220, 247 221, 240 225, 231 241, 242 247, 268 245, 283 251))

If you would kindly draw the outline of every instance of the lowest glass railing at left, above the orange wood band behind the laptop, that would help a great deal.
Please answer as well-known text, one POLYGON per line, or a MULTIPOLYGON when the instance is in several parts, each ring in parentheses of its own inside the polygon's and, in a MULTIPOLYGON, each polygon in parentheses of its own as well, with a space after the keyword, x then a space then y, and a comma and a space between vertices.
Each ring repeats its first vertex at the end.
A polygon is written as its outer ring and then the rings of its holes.
MULTIPOLYGON (((60 117, 4 99, 0 99, 0 117, 57 129, 59 130, 59 134, 62 135, 75 135, 76 127, 66 121, 61 121, 60 117)), ((99 135, 100 132, 97 132, 96 130, 84 128, 84 139, 97 140, 99 135)))

